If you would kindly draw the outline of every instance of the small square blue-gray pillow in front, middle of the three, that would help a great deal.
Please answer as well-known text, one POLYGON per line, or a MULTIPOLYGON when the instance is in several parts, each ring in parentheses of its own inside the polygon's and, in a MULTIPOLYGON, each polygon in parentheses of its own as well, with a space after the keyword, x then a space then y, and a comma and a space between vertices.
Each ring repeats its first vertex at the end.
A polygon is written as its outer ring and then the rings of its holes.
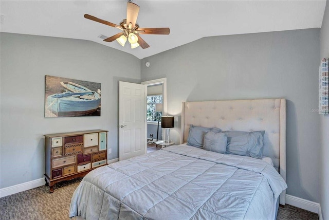
POLYGON ((225 154, 227 134, 223 132, 207 132, 204 141, 204 150, 225 154))

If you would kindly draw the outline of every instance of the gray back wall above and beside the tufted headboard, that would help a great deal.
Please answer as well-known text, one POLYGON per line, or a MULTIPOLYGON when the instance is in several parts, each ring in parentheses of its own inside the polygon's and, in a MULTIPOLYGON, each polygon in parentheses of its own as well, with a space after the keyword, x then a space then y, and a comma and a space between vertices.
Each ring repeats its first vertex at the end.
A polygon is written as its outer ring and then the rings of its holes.
POLYGON ((167 77, 169 115, 182 101, 286 98, 287 193, 319 202, 319 51, 320 29, 214 36, 143 59, 141 80, 167 77))

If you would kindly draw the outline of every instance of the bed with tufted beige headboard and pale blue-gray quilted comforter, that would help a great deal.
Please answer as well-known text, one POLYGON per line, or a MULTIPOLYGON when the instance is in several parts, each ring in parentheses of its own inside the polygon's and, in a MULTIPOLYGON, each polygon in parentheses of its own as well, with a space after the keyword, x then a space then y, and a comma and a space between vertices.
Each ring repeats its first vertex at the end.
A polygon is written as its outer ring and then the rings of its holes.
POLYGON ((183 144, 88 173, 72 196, 69 216, 275 219, 279 196, 285 205, 285 139, 285 99, 184 102, 183 144), (184 144, 192 125, 228 133, 265 131, 263 157, 221 154, 184 144))

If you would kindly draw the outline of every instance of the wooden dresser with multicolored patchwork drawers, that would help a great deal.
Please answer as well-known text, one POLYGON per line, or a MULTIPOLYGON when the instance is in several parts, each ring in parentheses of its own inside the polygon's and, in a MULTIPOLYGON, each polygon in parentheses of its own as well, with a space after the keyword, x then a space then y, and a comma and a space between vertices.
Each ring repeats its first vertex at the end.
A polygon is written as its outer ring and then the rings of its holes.
POLYGON ((60 181, 83 177, 107 164, 107 131, 90 130, 45 136, 45 181, 49 192, 60 181))

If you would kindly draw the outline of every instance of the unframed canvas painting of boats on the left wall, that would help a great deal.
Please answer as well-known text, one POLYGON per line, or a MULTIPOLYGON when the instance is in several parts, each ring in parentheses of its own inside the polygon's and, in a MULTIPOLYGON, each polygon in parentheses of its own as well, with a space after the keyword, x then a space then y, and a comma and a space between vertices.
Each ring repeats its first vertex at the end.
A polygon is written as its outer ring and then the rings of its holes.
POLYGON ((101 83, 46 76, 46 118, 100 115, 101 83))

